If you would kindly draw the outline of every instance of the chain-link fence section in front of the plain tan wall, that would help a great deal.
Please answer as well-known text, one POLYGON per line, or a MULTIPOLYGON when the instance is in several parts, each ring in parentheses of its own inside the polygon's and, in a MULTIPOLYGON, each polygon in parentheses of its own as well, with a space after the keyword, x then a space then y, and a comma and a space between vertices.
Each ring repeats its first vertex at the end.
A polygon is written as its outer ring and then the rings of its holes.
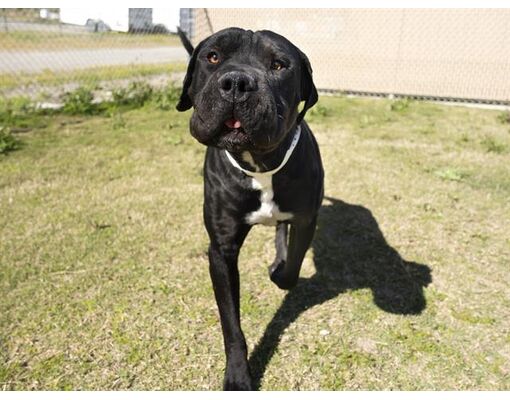
POLYGON ((317 87, 510 104, 509 9, 193 9, 196 44, 269 29, 310 58, 317 87))

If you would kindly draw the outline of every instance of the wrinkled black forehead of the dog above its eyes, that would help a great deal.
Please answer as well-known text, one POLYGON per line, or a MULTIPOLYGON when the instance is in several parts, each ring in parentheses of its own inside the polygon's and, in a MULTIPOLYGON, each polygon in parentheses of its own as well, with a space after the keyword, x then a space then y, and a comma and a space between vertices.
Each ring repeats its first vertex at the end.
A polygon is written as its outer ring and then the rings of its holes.
POLYGON ((286 54, 298 57, 294 45, 271 31, 250 31, 239 28, 228 28, 210 36, 204 43, 208 48, 221 50, 224 53, 250 54, 286 54))

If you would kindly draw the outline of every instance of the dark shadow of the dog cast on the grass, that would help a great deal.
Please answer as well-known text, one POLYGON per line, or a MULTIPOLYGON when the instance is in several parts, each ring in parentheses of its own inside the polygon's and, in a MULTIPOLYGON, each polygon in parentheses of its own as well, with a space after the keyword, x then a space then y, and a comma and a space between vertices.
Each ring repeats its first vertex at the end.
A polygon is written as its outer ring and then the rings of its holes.
POLYGON ((368 209, 326 200, 330 204, 320 209, 312 243, 316 273, 300 278, 287 293, 251 353, 257 389, 284 330, 304 311, 346 290, 370 288, 374 303, 390 313, 420 314, 426 307, 423 288, 432 281, 430 268, 402 259, 368 209))

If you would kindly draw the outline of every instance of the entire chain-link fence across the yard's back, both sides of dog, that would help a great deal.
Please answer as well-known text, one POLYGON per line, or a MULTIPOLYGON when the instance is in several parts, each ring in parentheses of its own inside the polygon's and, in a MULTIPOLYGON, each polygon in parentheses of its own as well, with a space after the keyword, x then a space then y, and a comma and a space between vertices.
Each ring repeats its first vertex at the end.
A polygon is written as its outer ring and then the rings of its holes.
MULTIPOLYGON (((229 26, 288 37, 323 91, 510 103, 510 9, 176 10, 195 44, 229 26)), ((180 81, 187 54, 157 13, 0 9, 0 98, 180 81)))

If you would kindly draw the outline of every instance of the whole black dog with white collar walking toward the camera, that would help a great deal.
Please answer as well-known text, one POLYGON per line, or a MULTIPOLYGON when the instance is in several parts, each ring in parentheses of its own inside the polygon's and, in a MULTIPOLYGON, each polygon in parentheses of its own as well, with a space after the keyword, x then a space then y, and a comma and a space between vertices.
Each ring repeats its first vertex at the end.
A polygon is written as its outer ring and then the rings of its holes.
POLYGON ((237 268, 246 235, 254 224, 276 225, 269 275, 278 287, 290 289, 315 232, 324 172, 303 117, 317 99, 308 58, 276 33, 229 28, 193 50, 177 109, 194 108, 191 134, 208 146, 204 220, 227 358, 226 390, 252 389, 237 268))

